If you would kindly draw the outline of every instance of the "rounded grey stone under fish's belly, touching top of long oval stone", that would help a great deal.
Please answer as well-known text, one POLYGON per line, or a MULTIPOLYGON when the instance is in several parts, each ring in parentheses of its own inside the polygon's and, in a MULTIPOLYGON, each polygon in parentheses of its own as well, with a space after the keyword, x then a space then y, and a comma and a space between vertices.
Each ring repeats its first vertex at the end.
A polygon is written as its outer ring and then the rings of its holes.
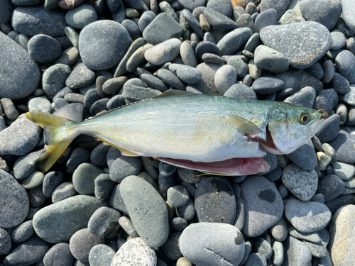
POLYGON ((138 157, 120 156, 112 163, 109 171, 110 178, 114 182, 122 182, 129 175, 136 175, 141 172, 142 161, 138 157))

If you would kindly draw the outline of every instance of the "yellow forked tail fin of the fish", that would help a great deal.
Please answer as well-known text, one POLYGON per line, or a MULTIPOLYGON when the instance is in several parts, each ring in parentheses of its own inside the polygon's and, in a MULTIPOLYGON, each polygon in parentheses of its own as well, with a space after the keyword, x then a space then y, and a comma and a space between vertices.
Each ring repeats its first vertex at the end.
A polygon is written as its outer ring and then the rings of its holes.
POLYGON ((37 161, 38 170, 47 172, 78 135, 73 128, 76 122, 40 111, 27 112, 26 116, 50 133, 50 141, 37 161))

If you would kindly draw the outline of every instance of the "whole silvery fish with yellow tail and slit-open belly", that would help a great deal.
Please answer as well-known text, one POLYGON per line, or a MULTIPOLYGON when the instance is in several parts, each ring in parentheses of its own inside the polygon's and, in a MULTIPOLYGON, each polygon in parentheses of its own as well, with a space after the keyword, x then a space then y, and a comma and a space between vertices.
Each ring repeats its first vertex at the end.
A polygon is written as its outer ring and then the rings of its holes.
POLYGON ((266 172, 263 157, 292 153, 319 130, 324 113, 279 101, 256 101, 170 90, 81 123, 29 111, 50 134, 38 158, 47 172, 80 134, 92 135, 125 156, 153 157, 204 174, 266 172))

